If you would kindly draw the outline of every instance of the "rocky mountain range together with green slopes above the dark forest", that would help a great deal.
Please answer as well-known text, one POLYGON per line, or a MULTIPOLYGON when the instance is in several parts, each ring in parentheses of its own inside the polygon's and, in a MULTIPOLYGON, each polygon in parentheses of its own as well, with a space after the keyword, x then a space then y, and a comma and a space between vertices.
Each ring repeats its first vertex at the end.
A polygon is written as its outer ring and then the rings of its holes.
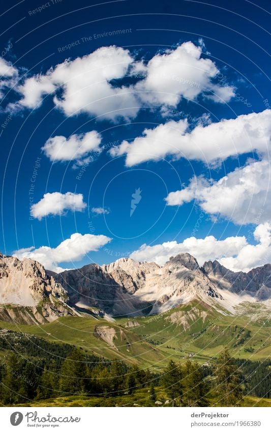
POLYGON ((163 267, 121 258, 56 274, 1 254, 0 303, 0 338, 36 335, 153 370, 208 364, 224 345, 235 358, 270 352, 270 264, 234 273, 183 253, 163 267))

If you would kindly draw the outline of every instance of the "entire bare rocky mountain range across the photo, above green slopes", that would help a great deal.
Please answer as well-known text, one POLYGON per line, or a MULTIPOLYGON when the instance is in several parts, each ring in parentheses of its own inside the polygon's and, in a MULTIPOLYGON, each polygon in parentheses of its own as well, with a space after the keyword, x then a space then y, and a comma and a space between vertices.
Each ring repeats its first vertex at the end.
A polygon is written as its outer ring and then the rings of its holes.
POLYGON ((196 258, 182 253, 164 266, 121 258, 57 274, 36 261, 0 254, 2 321, 40 324, 86 313, 109 319, 147 316, 194 300, 235 314, 244 302, 269 308, 270 298, 270 264, 248 273, 232 272, 218 261, 200 267, 196 258))

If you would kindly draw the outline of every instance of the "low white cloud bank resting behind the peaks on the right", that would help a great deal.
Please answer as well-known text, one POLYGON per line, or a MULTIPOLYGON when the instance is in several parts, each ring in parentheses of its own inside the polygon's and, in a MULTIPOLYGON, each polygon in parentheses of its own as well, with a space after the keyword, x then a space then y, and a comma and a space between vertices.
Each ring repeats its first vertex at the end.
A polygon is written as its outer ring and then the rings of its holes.
POLYGON ((189 252, 197 258, 200 266, 205 261, 218 260, 232 271, 247 272, 270 260, 271 224, 265 222, 258 225, 254 231, 254 238, 258 242, 256 245, 248 244, 244 236, 227 237, 225 240, 217 240, 214 236, 207 236, 204 239, 189 237, 182 243, 172 241, 155 246, 143 244, 130 257, 137 261, 154 261, 164 265, 170 256, 189 252))

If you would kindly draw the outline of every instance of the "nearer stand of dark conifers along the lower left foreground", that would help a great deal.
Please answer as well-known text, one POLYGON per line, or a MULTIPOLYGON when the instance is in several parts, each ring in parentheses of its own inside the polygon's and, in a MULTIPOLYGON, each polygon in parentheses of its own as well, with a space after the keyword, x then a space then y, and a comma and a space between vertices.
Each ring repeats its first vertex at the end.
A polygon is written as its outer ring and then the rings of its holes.
POLYGON ((81 350, 73 349, 57 366, 51 360, 25 360, 11 352, 0 366, 0 399, 4 405, 25 403, 27 399, 47 399, 68 395, 118 396, 132 394, 146 387, 156 376, 137 365, 128 367, 123 361, 95 361, 81 350))

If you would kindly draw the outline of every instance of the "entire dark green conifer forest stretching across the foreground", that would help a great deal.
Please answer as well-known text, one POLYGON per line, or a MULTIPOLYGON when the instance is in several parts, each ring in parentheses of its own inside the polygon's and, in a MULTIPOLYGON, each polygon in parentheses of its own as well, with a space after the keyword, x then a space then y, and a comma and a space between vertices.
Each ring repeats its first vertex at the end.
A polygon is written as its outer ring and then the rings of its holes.
POLYGON ((37 336, 33 336, 34 344, 28 336, 13 333, 0 339, 0 349, 6 353, 0 361, 4 405, 79 394, 105 398, 131 395, 138 388, 147 388, 152 403, 166 395, 173 407, 238 406, 246 394, 270 396, 270 362, 236 360, 227 349, 209 366, 171 360, 162 372, 154 373, 37 336))

